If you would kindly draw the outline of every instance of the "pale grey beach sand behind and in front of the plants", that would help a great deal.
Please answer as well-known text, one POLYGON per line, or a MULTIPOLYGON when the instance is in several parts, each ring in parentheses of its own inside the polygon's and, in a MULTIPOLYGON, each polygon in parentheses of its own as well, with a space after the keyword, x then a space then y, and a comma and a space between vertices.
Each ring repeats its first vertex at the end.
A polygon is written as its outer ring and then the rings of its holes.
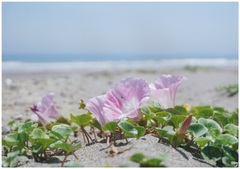
MULTIPOLYGON (((184 68, 171 68, 164 70, 121 70, 121 71, 68 71, 68 72, 25 72, 2 74, 2 131, 7 130, 10 120, 30 118, 32 112, 29 107, 38 103, 48 92, 54 92, 54 102, 57 110, 66 118, 70 113, 77 115, 85 111, 78 109, 82 99, 88 99, 106 93, 115 83, 126 77, 141 77, 149 83, 161 74, 179 74, 188 78, 178 88, 176 105, 189 104, 212 105, 224 107, 234 111, 238 108, 238 94, 229 97, 221 92, 222 86, 238 84, 238 67, 199 67, 196 71, 184 68)), ((137 166, 130 162, 129 156, 141 151, 146 155, 157 155, 168 152, 170 167, 207 167, 205 163, 194 160, 193 156, 185 150, 173 149, 157 143, 156 138, 145 136, 146 139, 132 140, 134 148, 116 157, 106 157, 105 151, 100 151, 106 144, 94 144, 76 151, 79 160, 69 156, 66 165, 79 163, 85 167, 103 166, 137 166), (149 140, 149 141, 146 141, 149 140), (143 146, 143 147, 141 147, 143 146), (94 148, 95 147, 95 148, 94 148), (105 153, 105 154, 104 154, 105 153), (176 162, 178 160, 179 162, 176 162), (126 163, 125 163, 126 162, 126 163)), ((59 160, 63 158, 59 157, 59 160)), ((58 160, 48 163, 35 163, 32 160, 23 167, 59 167, 58 160)))

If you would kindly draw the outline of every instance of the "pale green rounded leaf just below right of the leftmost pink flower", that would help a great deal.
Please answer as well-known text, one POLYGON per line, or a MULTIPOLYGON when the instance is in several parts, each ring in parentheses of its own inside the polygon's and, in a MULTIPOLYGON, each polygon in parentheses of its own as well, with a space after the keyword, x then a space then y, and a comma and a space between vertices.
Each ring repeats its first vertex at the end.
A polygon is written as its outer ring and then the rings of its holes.
POLYGON ((74 134, 71 126, 67 124, 58 124, 52 127, 52 131, 59 133, 63 138, 67 138, 74 134))

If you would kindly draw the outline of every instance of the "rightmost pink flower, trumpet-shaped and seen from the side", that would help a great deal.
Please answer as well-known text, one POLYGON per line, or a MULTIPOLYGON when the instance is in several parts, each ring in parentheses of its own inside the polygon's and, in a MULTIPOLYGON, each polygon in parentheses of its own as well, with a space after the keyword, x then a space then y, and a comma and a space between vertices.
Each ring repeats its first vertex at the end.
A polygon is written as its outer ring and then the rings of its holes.
POLYGON ((163 109, 174 107, 177 88, 180 83, 187 80, 181 75, 161 75, 154 83, 149 85, 151 96, 163 109))

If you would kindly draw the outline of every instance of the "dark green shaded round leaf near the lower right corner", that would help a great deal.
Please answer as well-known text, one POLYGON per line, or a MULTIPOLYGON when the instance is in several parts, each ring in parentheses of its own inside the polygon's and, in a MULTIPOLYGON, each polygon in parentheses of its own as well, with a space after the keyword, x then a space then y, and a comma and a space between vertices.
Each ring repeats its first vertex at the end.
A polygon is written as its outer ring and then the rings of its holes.
POLYGON ((219 159, 223 157, 221 150, 214 146, 206 146, 202 149, 201 155, 203 158, 211 163, 216 163, 219 159))

